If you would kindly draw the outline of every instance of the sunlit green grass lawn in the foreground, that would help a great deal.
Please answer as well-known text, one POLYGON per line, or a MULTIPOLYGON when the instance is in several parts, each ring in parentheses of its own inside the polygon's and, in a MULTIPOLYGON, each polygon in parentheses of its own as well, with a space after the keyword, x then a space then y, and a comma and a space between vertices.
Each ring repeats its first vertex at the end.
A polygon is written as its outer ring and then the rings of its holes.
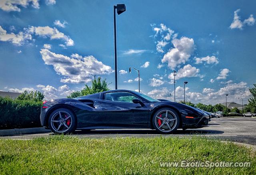
POLYGON ((0 139, 0 174, 256 174, 255 152, 206 138, 50 136, 0 139), (160 167, 161 161, 251 162, 251 167, 160 167))

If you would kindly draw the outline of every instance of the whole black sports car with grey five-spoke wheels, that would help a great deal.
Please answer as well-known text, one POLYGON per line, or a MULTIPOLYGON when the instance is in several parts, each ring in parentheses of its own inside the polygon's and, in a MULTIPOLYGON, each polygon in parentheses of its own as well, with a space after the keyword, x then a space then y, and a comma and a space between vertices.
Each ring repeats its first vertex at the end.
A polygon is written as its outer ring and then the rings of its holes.
POLYGON ((150 128, 172 133, 178 128, 208 126, 204 112, 170 101, 160 101, 132 90, 109 90, 78 98, 44 101, 40 120, 54 133, 108 128, 150 128))

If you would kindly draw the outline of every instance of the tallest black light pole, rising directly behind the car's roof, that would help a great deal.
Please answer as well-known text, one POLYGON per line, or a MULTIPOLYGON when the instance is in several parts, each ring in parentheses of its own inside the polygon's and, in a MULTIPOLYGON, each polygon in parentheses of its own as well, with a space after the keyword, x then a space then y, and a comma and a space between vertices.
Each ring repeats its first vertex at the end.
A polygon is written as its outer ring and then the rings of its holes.
POLYGON ((117 51, 116 51, 116 12, 120 15, 125 12, 126 6, 124 4, 117 4, 114 6, 114 56, 115 56, 115 86, 117 89, 117 51))

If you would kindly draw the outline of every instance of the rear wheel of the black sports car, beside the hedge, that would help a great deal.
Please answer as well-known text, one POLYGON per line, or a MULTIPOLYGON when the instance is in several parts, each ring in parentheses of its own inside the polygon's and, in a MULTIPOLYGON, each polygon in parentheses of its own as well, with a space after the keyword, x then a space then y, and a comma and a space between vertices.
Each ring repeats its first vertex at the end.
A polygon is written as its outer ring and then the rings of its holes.
POLYGON ((76 125, 76 116, 66 108, 54 110, 48 119, 48 126, 55 134, 71 134, 76 130, 76 125))

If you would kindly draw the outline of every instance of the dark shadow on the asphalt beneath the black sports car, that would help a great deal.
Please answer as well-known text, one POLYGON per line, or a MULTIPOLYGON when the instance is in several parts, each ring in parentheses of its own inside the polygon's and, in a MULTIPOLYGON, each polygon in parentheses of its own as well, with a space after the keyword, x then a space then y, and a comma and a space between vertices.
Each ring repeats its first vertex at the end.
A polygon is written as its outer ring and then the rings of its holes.
MULTIPOLYGON (((223 134, 223 131, 218 130, 199 130, 199 129, 188 129, 188 130, 177 130, 174 135, 211 135, 211 134, 223 134)), ((125 130, 76 130, 74 135, 111 135, 111 134, 120 134, 120 135, 147 135, 155 134, 162 135, 156 130, 141 130, 141 129, 125 129, 125 130)))

